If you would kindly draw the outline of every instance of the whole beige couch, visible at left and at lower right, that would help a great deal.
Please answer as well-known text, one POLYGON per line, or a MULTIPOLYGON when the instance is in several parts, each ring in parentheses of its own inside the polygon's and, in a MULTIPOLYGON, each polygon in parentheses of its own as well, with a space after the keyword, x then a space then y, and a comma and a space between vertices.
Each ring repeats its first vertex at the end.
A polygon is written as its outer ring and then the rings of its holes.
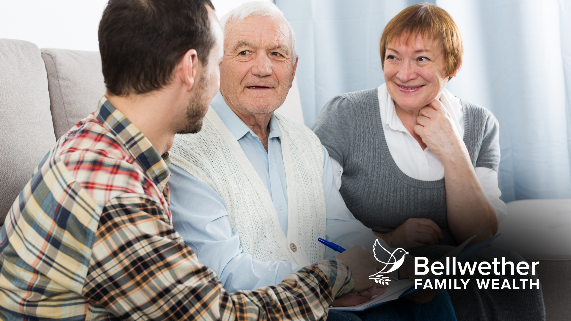
MULTIPOLYGON (((0 224, 34 167, 103 93, 99 53, 0 39, 0 224)), ((540 261, 548 320, 571 320, 569 216, 571 200, 509 203, 494 244, 540 261)))

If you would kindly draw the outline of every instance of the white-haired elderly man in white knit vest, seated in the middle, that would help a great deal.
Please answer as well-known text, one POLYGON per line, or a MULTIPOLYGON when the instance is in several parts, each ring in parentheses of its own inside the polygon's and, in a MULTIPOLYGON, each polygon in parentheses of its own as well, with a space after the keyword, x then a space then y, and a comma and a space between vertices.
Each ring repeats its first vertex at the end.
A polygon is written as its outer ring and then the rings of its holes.
MULTIPOLYGON (((340 172, 327 150, 307 127, 274 113, 297 66, 295 38, 282 12, 268 2, 245 3, 222 25, 224 102, 212 104, 200 133, 177 135, 170 150, 175 230, 229 291, 276 284, 301 266, 335 256, 319 237, 345 248, 372 248, 377 237, 345 206, 340 172)), ((420 291, 412 299, 428 302, 435 294, 420 291)), ((446 292, 440 296, 449 302, 446 292)), ((351 295, 334 304, 368 299, 351 295)))

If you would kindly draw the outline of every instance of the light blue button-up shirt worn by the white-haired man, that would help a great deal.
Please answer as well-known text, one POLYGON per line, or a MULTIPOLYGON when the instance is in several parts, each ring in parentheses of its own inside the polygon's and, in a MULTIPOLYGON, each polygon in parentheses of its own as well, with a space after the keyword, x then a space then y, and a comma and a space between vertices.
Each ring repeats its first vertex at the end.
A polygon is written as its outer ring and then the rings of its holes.
MULTIPOLYGON (((224 125, 242 146, 244 154, 264 182, 272 197, 282 230, 287 235, 288 202, 286 171, 282 159, 282 130, 275 115, 270 119, 268 151, 254 132, 223 102, 213 102, 212 108, 224 125)), ((345 248, 362 244, 372 250, 376 239, 371 229, 365 227, 349 212, 339 193, 341 172, 332 165, 332 159, 323 147, 323 189, 327 222, 326 239, 345 248)), ((278 284, 288 274, 298 271, 301 266, 293 262, 270 260, 260 262, 250 254, 242 252, 239 235, 232 230, 226 211, 226 204, 218 193, 207 183, 196 179, 182 168, 170 164, 172 176, 168 180, 171 196, 172 223, 184 238, 186 244, 195 251, 204 265, 218 274, 229 292, 255 290, 256 288, 278 284)), ((383 242, 384 243, 384 242, 383 242)), ((325 258, 338 253, 326 248, 325 258)))

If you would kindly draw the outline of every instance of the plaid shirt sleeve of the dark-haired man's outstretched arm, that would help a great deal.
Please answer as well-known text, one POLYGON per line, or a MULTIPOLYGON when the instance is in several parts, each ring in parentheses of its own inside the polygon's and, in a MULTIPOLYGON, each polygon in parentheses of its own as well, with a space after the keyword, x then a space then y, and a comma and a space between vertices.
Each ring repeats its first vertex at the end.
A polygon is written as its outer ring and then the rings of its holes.
POLYGON ((329 259, 277 286, 228 294, 161 208, 128 193, 104 206, 83 287, 90 302, 127 320, 324 320, 354 287, 347 266, 329 259))

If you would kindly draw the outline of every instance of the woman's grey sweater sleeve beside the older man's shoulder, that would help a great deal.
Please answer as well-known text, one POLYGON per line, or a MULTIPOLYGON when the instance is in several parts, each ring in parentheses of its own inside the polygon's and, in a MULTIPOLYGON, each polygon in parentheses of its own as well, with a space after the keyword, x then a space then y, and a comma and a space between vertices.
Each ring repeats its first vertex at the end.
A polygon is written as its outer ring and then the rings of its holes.
POLYGON ((351 142, 355 134, 352 105, 346 95, 333 97, 325 104, 311 127, 329 155, 343 167, 351 155, 351 142))

